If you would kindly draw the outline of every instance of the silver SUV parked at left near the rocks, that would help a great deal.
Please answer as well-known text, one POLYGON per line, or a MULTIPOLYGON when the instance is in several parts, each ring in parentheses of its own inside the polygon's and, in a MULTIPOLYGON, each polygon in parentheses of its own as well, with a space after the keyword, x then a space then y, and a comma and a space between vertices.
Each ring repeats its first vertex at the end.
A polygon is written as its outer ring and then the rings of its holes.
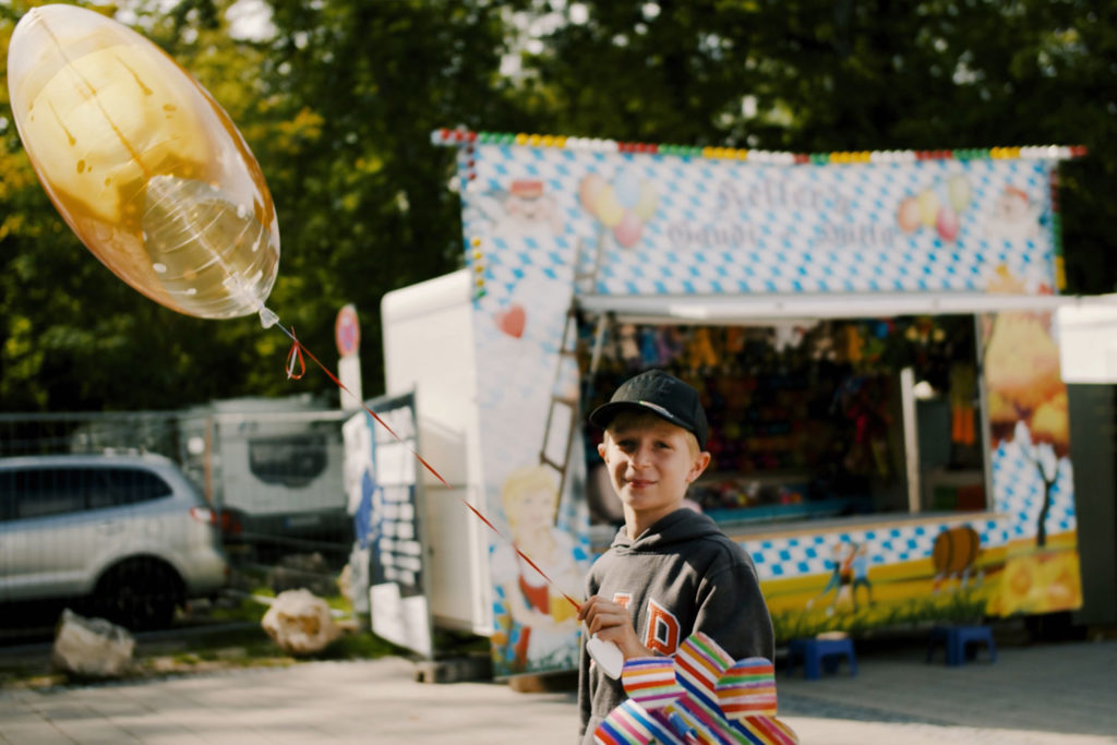
POLYGON ((229 567, 213 513, 168 458, 0 458, 0 603, 75 601, 133 631, 216 594, 229 567))

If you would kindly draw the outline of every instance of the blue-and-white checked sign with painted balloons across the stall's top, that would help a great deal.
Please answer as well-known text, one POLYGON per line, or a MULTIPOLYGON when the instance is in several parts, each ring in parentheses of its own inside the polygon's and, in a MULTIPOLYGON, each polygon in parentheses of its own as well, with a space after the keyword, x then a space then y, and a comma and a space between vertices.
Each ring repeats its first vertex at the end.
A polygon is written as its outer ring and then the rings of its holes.
POLYGON ((1054 286, 1049 161, 779 165, 487 144, 468 162, 467 237, 481 216, 496 240, 534 230, 508 214, 515 182, 536 182, 553 220, 552 250, 509 250, 498 285, 525 265, 557 273, 581 240, 586 261, 601 250, 594 292, 610 295, 982 292, 1000 266, 1028 292, 1054 286))

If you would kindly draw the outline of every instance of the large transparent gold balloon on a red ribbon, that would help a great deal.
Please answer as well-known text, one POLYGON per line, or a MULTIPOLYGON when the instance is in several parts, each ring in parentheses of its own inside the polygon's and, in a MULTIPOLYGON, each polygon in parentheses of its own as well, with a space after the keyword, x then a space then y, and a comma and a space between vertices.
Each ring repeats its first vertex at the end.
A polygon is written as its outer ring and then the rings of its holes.
POLYGON ((269 314, 279 226, 264 174, 173 59, 96 12, 44 6, 12 34, 8 90, 44 189, 116 276, 189 315, 269 314))

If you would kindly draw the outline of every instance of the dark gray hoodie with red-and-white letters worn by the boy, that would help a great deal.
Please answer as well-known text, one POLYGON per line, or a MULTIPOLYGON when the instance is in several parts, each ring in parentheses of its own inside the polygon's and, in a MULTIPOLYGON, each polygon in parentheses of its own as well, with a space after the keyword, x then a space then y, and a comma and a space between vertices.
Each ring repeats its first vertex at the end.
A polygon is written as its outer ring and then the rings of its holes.
MULTIPOLYGON (((678 509, 634 541, 624 528, 590 570, 585 596, 624 604, 637 637, 652 651, 674 655, 696 631, 733 659, 774 659, 772 619, 753 561, 709 517, 678 509)), ((577 704, 582 743, 592 745, 601 720, 628 696, 620 680, 590 665, 582 644, 577 704)))

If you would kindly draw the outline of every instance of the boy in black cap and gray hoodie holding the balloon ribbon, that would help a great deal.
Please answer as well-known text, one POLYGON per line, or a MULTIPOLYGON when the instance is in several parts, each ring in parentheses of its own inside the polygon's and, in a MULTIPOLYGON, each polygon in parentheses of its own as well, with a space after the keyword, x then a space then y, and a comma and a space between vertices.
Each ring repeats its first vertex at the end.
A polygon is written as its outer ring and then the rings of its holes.
POLYGON ((615 643, 624 659, 674 655, 696 631, 734 659, 773 659, 772 620, 756 569, 709 517, 682 506, 710 455, 698 391, 659 370, 617 389, 590 414, 603 428, 598 452, 620 497, 624 527, 586 577, 579 667, 582 743, 627 698, 621 681, 591 663, 584 638, 615 643))

